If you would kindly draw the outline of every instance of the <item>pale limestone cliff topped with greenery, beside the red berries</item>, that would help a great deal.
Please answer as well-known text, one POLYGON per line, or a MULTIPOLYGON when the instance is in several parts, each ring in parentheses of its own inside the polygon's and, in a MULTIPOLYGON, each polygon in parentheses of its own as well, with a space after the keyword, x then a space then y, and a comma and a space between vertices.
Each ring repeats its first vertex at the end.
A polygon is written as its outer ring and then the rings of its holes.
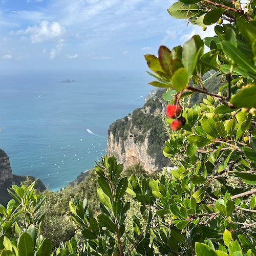
POLYGON ((108 155, 115 155, 125 167, 140 163, 152 173, 170 164, 162 153, 164 141, 167 140, 162 122, 166 106, 162 93, 157 91, 143 108, 110 125, 108 155))

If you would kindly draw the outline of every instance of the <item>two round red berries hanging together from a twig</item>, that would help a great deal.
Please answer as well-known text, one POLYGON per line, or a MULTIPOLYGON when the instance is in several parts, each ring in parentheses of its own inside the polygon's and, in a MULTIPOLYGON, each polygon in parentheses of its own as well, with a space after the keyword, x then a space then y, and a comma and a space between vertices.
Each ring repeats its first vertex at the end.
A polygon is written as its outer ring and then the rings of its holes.
POLYGON ((178 117, 180 113, 181 113, 181 106, 179 104, 167 105, 166 115, 172 119, 176 118, 175 120, 173 120, 172 124, 170 125, 173 131, 179 131, 181 127, 186 123, 186 119, 184 117, 182 116, 178 117))

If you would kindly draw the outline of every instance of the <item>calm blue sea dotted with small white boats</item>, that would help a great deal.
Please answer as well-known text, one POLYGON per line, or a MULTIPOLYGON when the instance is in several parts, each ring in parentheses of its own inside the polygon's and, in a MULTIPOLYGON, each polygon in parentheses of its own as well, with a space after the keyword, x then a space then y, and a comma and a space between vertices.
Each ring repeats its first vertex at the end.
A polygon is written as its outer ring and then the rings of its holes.
POLYGON ((91 169, 106 153, 110 124, 142 106, 154 89, 150 79, 126 71, 2 74, 0 148, 13 174, 58 190, 91 169))

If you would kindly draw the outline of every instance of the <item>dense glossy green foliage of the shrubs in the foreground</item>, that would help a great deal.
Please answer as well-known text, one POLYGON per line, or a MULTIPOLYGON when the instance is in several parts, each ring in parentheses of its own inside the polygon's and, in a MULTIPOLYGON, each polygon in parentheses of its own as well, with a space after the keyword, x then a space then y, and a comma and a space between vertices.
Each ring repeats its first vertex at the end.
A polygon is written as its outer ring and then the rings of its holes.
MULTIPOLYGON (((100 209, 94 214, 87 199, 70 201, 75 237, 56 249, 59 256, 256 254, 255 3, 242 11, 240 1, 182 0, 168 12, 203 27, 228 22, 216 25, 215 37, 196 35, 183 47, 145 56, 158 80, 151 84, 168 88, 169 103, 205 95, 200 105, 182 104, 186 123, 168 132, 163 154, 177 168, 159 179, 128 178, 114 156, 102 157, 95 166, 100 209), (226 77, 217 94, 205 88, 210 70, 226 77)), ((1 255, 50 255, 52 242, 40 234, 46 196, 36 195, 34 184, 9 193, 14 199, 0 205, 1 255)))

